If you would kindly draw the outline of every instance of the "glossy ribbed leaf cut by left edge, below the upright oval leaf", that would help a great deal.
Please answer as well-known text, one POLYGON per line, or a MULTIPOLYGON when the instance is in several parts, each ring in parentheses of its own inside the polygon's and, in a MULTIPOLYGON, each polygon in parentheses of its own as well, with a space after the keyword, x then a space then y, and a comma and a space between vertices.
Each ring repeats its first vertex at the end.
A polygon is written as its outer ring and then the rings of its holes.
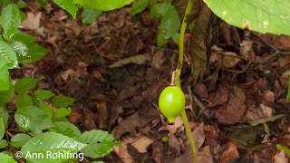
POLYGON ((0 38, 0 61, 5 61, 9 69, 18 68, 17 55, 14 49, 2 38, 0 38))

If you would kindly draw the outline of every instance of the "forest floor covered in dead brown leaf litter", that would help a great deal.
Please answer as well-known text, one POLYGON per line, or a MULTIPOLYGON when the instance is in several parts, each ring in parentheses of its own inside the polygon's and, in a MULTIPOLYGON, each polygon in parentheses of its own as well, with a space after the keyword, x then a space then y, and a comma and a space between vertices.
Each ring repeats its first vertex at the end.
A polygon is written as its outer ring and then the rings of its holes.
MULTIPOLYGON (((169 126, 158 110, 178 55, 174 43, 157 46, 158 20, 148 11, 132 16, 125 7, 84 25, 54 5, 29 5, 23 29, 50 53, 14 71, 14 79, 34 76, 40 88, 75 98, 71 122, 81 130, 109 130, 121 141, 106 162, 190 162, 182 120, 169 126)), ((186 35, 181 85, 199 161, 287 162, 275 145, 290 146, 290 55, 275 51, 289 51, 290 38, 245 37, 245 31, 218 25, 212 47, 222 54, 210 53, 208 72, 196 85, 186 35)))

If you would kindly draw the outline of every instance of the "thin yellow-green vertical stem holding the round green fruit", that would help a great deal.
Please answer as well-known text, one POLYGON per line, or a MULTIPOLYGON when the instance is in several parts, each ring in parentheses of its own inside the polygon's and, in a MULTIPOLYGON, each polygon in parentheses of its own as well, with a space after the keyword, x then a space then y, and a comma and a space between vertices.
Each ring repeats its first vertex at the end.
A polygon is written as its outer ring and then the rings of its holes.
MULTIPOLYGON (((176 86, 181 88, 181 84, 180 84, 180 73, 181 73, 181 68, 182 68, 182 63, 183 63, 183 53, 184 53, 184 35, 185 35, 185 31, 188 27, 188 22, 187 22, 187 15, 189 15, 192 11, 192 0, 188 1, 188 5, 183 17, 183 21, 181 24, 181 28, 180 28, 180 37, 179 37, 179 62, 178 62, 178 66, 176 68, 175 71, 175 75, 174 75, 174 83, 176 86)), ((181 118, 183 120, 183 124, 187 133, 187 136, 189 138, 189 145, 191 147, 191 151, 192 151, 192 156, 193 156, 193 162, 194 163, 198 163, 198 152, 197 152, 197 147, 195 144, 195 139, 191 133, 191 130, 189 128, 189 119, 186 113, 186 110, 182 110, 181 112, 181 118)))

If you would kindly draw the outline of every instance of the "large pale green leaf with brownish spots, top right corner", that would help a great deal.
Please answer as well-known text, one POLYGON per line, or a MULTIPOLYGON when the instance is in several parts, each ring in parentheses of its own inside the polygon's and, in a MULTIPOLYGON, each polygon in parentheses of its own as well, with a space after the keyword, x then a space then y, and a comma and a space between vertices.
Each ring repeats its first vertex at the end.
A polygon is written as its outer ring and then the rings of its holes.
POLYGON ((289 1, 204 0, 204 2, 228 24, 263 34, 290 34, 289 1))

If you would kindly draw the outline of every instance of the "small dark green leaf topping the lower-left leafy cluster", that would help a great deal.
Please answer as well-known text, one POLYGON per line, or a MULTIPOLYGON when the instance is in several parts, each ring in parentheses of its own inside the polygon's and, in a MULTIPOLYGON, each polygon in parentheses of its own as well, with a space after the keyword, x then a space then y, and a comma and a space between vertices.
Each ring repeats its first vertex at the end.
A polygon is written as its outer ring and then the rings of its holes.
POLYGON ((37 80, 34 78, 22 78, 18 80, 14 84, 15 91, 21 92, 21 91, 29 91, 32 90, 37 84, 37 80))

